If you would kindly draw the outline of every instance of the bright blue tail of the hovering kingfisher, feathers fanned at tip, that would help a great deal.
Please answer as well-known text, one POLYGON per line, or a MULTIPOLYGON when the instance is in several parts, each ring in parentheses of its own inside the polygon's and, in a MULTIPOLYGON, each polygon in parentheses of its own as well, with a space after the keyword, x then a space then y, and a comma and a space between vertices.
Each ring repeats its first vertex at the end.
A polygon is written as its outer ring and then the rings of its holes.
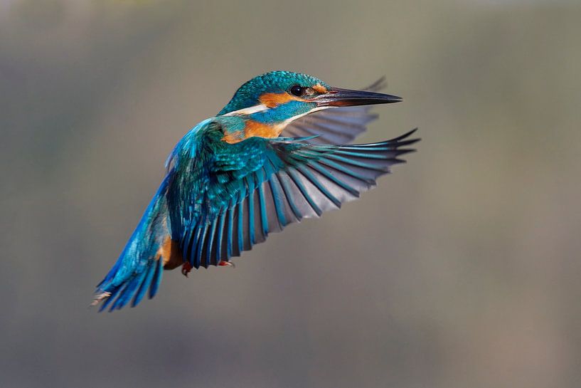
POLYGON ((134 307, 148 289, 150 299, 157 293, 164 266, 161 252, 164 243, 171 241, 167 220, 168 181, 169 177, 166 177, 161 182, 117 262, 97 285, 91 305, 102 302, 99 311, 109 305, 110 311, 120 309, 132 299, 134 307))

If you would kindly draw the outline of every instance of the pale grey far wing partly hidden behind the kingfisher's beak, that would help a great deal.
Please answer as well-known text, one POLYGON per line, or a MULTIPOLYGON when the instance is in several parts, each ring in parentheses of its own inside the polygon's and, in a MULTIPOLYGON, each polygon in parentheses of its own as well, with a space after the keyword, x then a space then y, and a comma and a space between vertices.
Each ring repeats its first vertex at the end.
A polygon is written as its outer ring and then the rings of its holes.
MULTIPOLYGON (((385 88, 385 77, 376 80, 362 90, 371 92, 385 88)), ((319 110, 294 120, 282 131, 282 137, 308 137, 312 144, 347 144, 365 132, 367 124, 378 115, 371 112, 371 106, 329 108, 319 110)))

